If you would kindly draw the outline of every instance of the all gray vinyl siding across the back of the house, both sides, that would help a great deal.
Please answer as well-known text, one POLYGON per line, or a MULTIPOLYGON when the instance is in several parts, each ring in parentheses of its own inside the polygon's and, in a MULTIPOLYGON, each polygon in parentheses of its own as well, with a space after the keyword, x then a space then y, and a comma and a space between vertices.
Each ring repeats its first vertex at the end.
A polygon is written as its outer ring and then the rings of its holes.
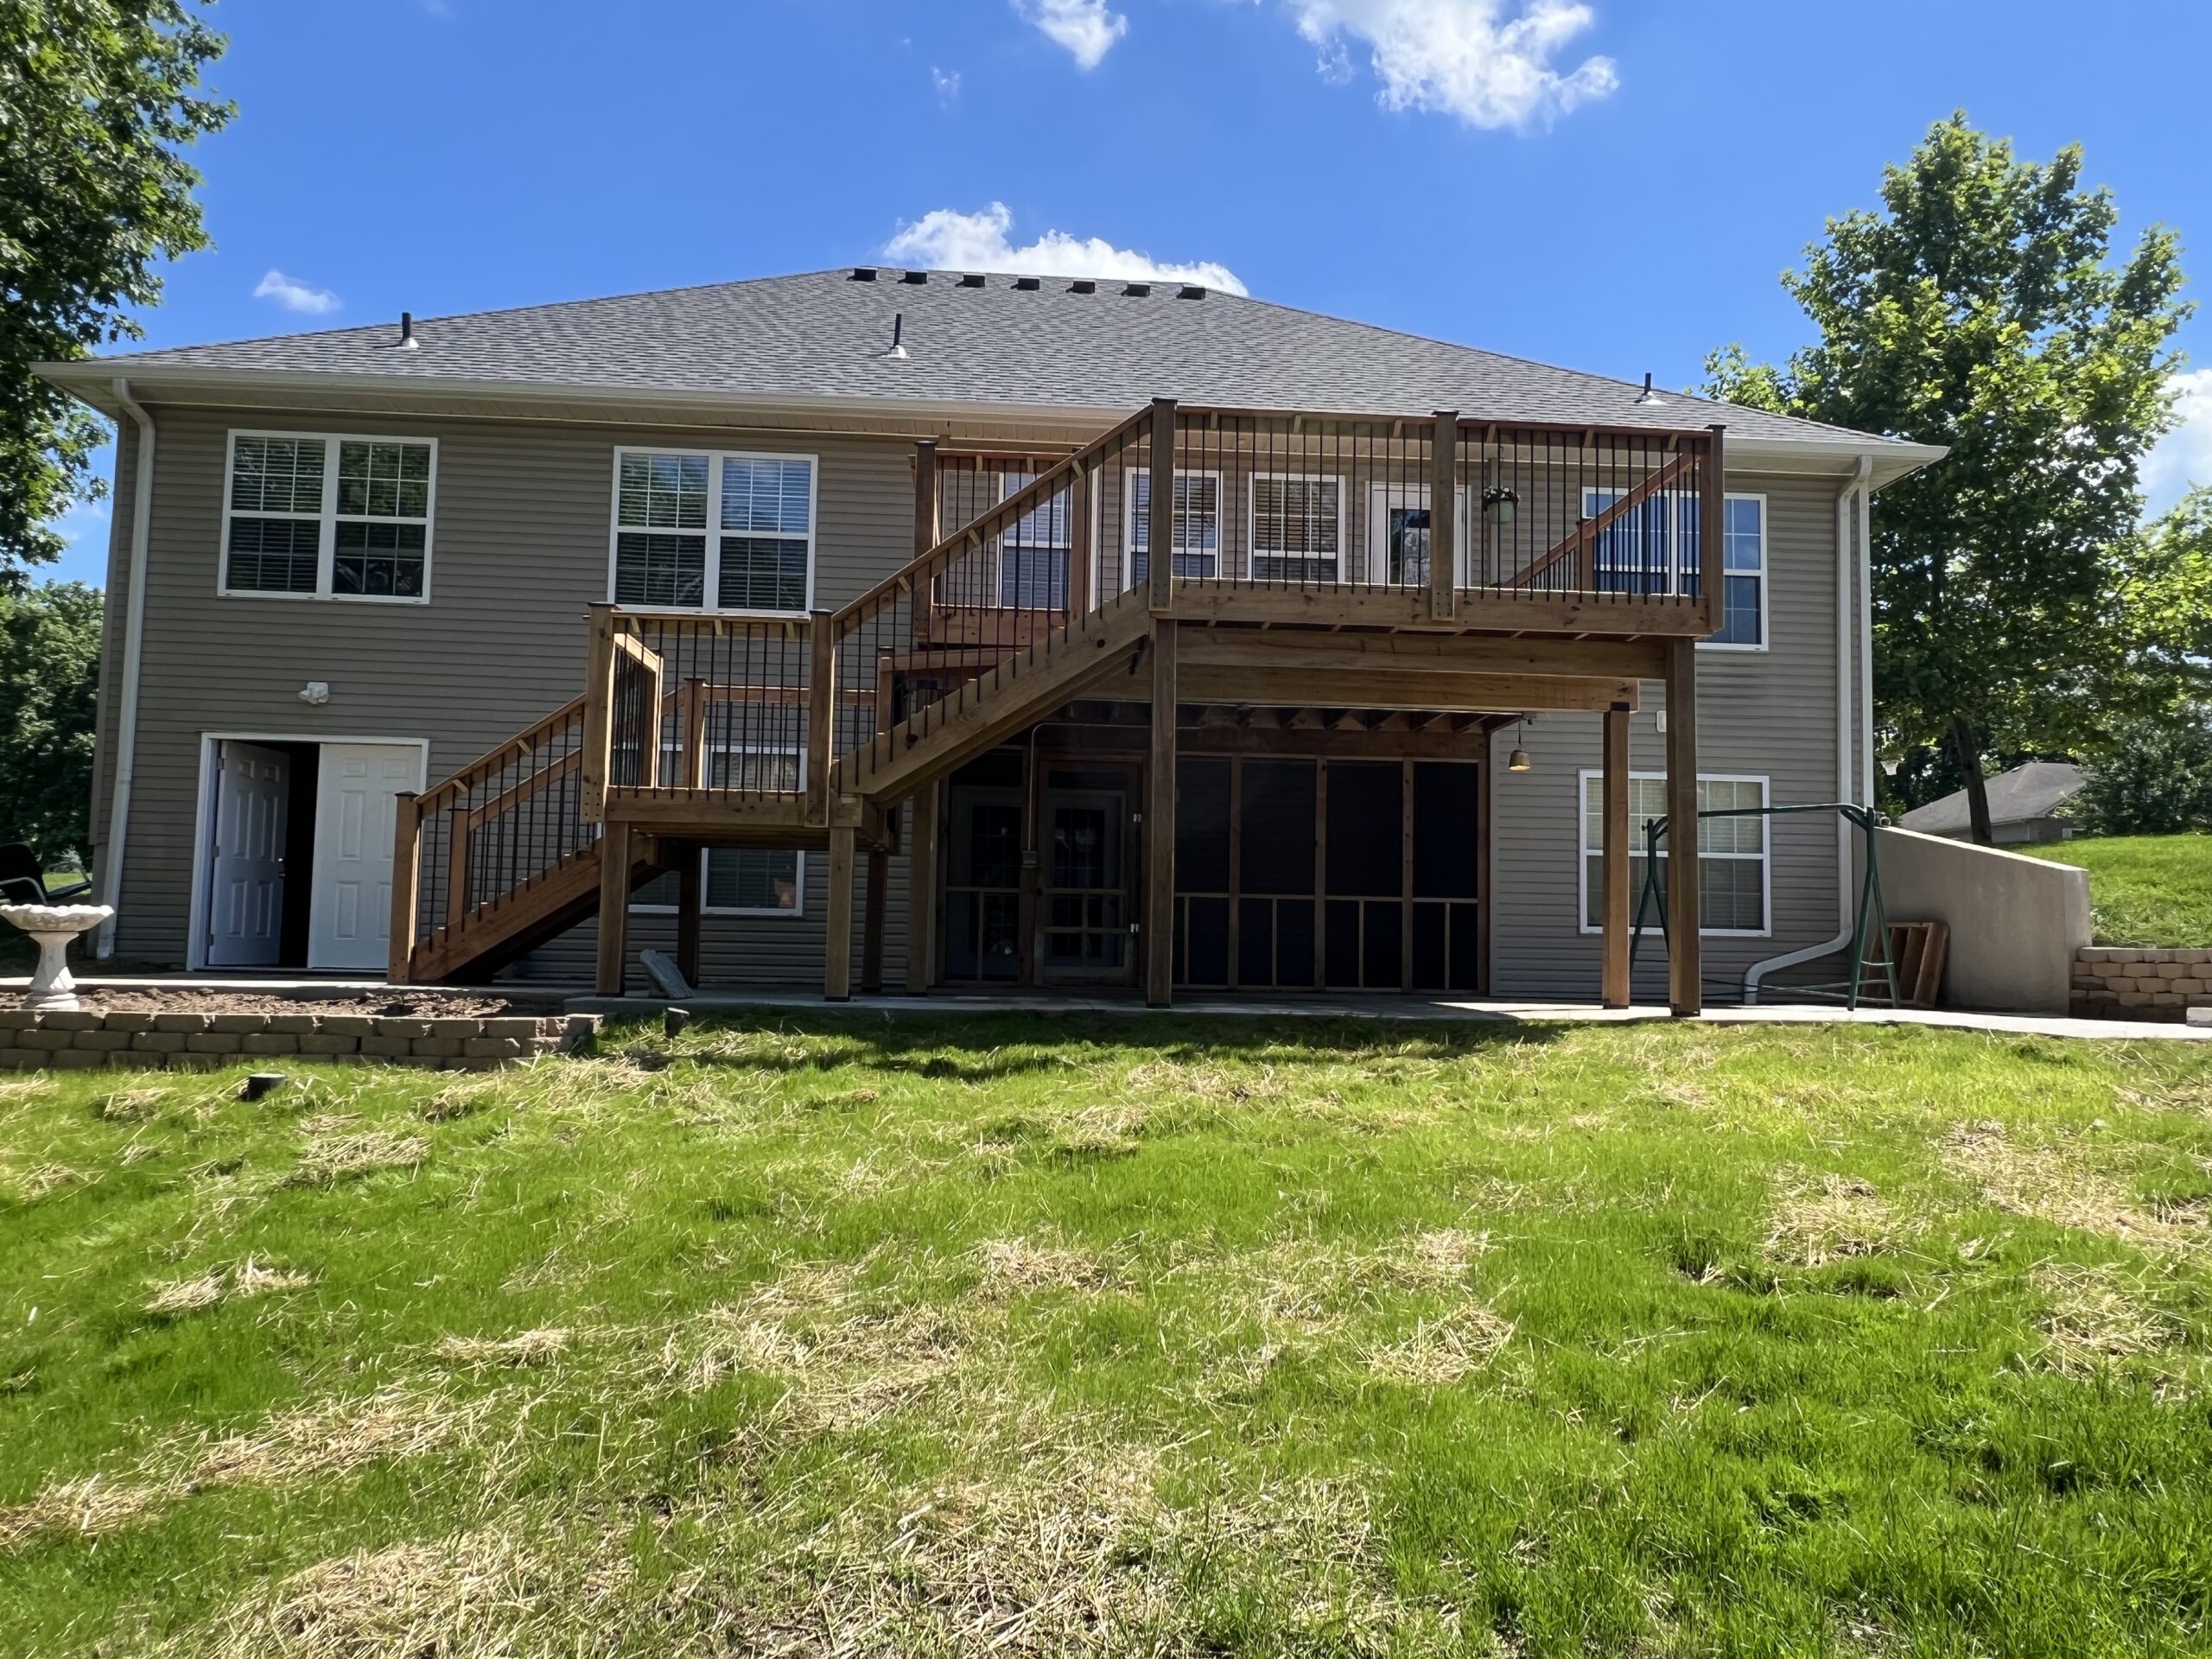
MULTIPOLYGON (((201 734, 429 739, 429 779, 436 781, 582 690, 586 606, 608 591, 617 447, 818 456, 816 606, 843 604, 911 555, 911 445, 900 438, 181 407, 155 409, 155 418, 139 748, 117 929, 124 956, 153 962, 186 960, 201 823, 201 734), (438 438, 431 602, 217 597, 232 429, 438 438), (330 684, 330 703, 299 701, 310 679, 330 684)), ((111 688, 119 686, 131 467, 126 429, 111 542, 111 688)), ((1739 476, 1730 489, 1767 495, 1770 650, 1699 653, 1699 768, 1765 776, 1774 803, 1827 801, 1836 792, 1836 482, 1739 476)), ((1356 504, 1352 518, 1363 522, 1365 504, 1356 504)), ((1113 591, 1113 582, 1102 568, 1102 591, 1113 591)), ((1652 721, 1657 706, 1659 688, 1648 686, 1632 721, 1639 770, 1663 765, 1663 739, 1652 721)), ((108 699, 102 708, 102 823, 113 783, 113 728, 108 699)), ((1495 739, 1500 759, 1513 741, 1511 732, 1495 739)), ((1597 938, 1577 927, 1577 774, 1597 765, 1599 717, 1542 714, 1524 743, 1535 770, 1506 774, 1498 768, 1493 776, 1493 991, 1595 998, 1597 938)), ((894 984, 905 973, 905 858, 894 858, 885 929, 885 978, 894 984)), ((856 933, 860 909, 856 898, 856 933)), ((703 920, 703 978, 818 984, 825 911, 827 858, 810 854, 803 916, 703 920)), ((1750 962, 1834 929, 1834 823, 1776 823, 1772 936, 1710 938, 1708 984, 1719 989, 1750 962)), ((637 914, 630 938, 633 949, 672 949, 675 918, 637 914)), ((591 978, 591 958, 593 929, 584 925, 538 951, 518 973, 580 982, 591 978)), ((1646 998, 1663 995, 1657 940, 1644 956, 1637 989, 1646 998)))

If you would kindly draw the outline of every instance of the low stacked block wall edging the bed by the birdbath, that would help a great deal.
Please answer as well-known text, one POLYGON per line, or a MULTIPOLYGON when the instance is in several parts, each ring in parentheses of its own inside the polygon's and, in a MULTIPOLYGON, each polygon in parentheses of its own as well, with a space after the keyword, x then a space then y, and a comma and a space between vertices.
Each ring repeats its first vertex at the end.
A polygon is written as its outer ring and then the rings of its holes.
POLYGON ((338 1060, 434 1071, 491 1071, 571 1053, 599 1031, 595 1013, 476 1020, 369 1013, 73 1013, 0 1011, 0 1068, 217 1071, 261 1060, 338 1060))

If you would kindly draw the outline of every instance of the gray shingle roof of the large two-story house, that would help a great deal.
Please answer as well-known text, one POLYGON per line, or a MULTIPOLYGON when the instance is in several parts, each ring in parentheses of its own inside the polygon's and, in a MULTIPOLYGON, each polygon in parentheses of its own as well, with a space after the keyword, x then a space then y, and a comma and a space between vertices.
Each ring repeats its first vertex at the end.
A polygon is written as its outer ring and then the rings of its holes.
MULTIPOLYGON (((717 398, 894 398, 1135 409, 1183 403, 1332 414, 1427 414, 1699 427, 1765 442, 1889 445, 1807 420, 1663 394, 1223 292, 1146 294, 1121 281, 1077 292, 1044 279, 852 268, 672 288, 562 305, 416 321, 420 349, 394 349, 396 323, 188 345, 102 358, 102 369, 270 369, 411 383, 469 380, 546 389, 695 392, 717 398), (916 279, 920 276, 920 279, 916 279), (1033 285, 1020 285, 1029 281, 1033 285), (883 356, 905 316, 905 358, 883 356)), ((1911 445, 1893 445, 1898 451, 1911 445)))

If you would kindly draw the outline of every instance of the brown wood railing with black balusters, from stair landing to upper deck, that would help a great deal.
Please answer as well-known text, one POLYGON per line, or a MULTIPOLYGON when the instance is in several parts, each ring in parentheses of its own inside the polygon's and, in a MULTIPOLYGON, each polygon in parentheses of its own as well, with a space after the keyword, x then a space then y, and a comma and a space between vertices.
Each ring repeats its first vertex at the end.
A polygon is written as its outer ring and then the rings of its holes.
POLYGON ((865 792, 896 748, 1130 604, 1712 633, 1721 500, 1719 429, 1157 400, 1060 458, 940 465, 925 442, 916 557, 838 611, 595 608, 584 812, 635 790, 737 812, 803 796, 805 821, 827 823, 832 799, 865 792), (1172 482, 1155 489, 1161 473, 1172 482))

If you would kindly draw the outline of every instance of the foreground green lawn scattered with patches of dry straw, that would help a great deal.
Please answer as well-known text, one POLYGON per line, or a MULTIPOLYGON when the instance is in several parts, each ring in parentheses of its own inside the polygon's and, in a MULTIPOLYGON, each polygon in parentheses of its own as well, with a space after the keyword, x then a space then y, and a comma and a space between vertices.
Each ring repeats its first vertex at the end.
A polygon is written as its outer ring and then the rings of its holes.
POLYGON ((0 1079, 0 1652, 2212 1641, 2208 1048, 604 1048, 0 1079))

